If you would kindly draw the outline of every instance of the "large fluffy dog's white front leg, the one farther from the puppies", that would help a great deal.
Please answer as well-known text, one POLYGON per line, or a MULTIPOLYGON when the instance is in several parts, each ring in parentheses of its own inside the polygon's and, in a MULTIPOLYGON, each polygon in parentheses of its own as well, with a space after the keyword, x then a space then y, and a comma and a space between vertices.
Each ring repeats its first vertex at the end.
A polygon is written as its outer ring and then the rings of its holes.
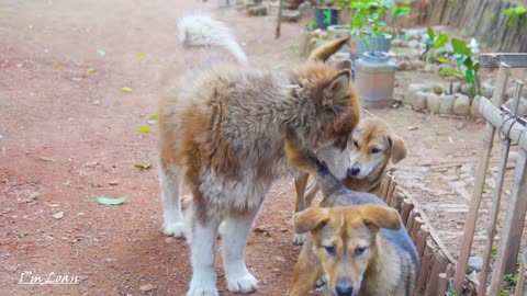
POLYGON ((215 241, 218 221, 192 223, 190 242, 192 280, 187 296, 218 296, 216 288, 215 241))

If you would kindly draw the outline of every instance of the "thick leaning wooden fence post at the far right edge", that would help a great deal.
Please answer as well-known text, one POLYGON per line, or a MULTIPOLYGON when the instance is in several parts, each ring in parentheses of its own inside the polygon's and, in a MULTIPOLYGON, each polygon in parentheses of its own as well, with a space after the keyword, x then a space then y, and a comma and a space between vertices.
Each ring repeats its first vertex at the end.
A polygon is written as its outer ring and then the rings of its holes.
MULTIPOLYGON (((502 286, 503 274, 507 263, 515 264, 518 254, 518 248, 522 240, 522 230, 524 229, 525 212, 527 210, 527 151, 522 150, 516 162, 513 190, 508 200, 507 214, 503 225, 502 236, 500 238, 500 252, 497 253, 492 271, 491 295, 497 295, 502 286)), ((514 265, 513 264, 513 265, 514 265)))

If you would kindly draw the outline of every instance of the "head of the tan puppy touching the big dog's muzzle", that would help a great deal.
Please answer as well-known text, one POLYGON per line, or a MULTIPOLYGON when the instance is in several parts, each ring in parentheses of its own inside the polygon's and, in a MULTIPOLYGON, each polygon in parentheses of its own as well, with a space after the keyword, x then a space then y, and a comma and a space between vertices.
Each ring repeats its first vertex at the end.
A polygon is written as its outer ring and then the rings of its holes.
POLYGON ((404 140, 379 118, 366 118, 351 134, 348 143, 350 166, 347 174, 355 179, 377 177, 391 159, 397 163, 406 157, 404 140))

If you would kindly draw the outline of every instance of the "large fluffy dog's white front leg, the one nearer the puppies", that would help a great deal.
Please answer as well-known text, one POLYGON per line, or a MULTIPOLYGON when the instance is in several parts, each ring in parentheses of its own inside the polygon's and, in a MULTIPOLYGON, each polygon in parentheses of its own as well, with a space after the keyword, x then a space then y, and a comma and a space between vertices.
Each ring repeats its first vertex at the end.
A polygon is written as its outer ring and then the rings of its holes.
POLYGON ((225 219, 223 229, 223 264, 227 288, 231 292, 250 293, 257 289, 258 281, 245 264, 245 247, 258 209, 233 213, 225 219))

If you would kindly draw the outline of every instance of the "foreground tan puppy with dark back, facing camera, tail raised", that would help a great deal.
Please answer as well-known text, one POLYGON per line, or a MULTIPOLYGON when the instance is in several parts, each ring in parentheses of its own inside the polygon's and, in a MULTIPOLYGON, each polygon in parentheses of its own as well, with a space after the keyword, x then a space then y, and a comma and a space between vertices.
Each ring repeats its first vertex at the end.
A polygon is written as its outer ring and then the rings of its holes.
POLYGON ((294 215, 296 232, 310 232, 293 270, 288 296, 304 296, 325 277, 327 296, 410 296, 419 270, 414 243, 399 213, 370 193, 348 190, 293 129, 288 159, 314 175, 323 207, 294 215))

